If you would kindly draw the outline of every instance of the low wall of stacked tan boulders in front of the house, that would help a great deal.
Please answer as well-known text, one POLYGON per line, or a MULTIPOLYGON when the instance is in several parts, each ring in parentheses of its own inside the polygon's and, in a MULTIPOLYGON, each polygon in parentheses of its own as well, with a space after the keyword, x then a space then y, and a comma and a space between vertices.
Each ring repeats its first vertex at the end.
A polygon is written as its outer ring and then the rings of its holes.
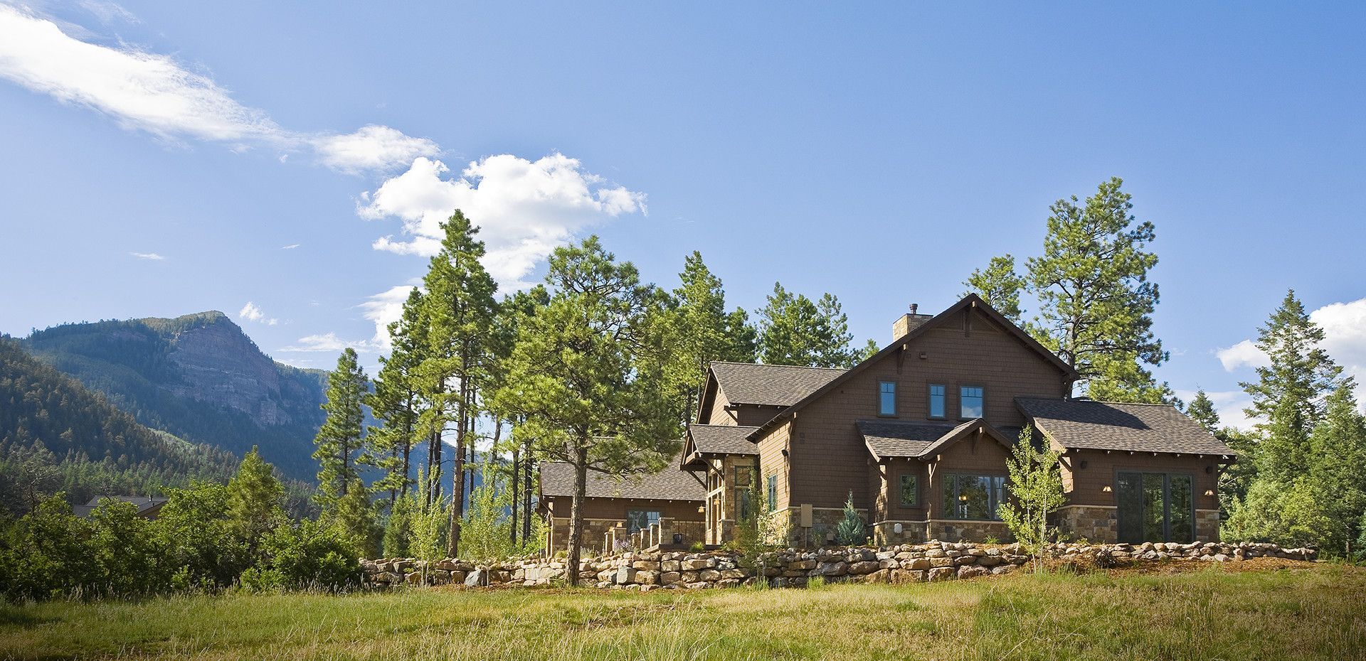
MULTIPOLYGON (((1056 545, 1049 556, 1089 559, 1098 565, 1172 561, 1240 561, 1254 557, 1314 560, 1313 549, 1281 549, 1273 544, 1105 544, 1056 545)), ((978 545, 930 541, 880 548, 785 549, 765 556, 762 580, 775 587, 805 586, 813 578, 826 582, 912 583, 975 578, 1015 571, 1030 557, 1018 545, 978 545)), ((365 560, 369 587, 402 585, 544 586, 566 582, 561 559, 526 559, 493 564, 463 560, 380 559, 365 560)), ((735 552, 628 552, 585 559, 582 585, 627 589, 699 589, 753 585, 757 568, 746 567, 735 552)))

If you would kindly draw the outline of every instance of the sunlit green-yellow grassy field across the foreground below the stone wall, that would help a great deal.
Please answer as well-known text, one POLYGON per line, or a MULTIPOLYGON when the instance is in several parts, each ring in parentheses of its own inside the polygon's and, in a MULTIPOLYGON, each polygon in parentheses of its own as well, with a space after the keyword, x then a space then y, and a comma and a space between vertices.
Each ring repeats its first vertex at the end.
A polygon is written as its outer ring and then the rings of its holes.
POLYGON ((1366 658, 1366 569, 0 606, 3 658, 1366 658))

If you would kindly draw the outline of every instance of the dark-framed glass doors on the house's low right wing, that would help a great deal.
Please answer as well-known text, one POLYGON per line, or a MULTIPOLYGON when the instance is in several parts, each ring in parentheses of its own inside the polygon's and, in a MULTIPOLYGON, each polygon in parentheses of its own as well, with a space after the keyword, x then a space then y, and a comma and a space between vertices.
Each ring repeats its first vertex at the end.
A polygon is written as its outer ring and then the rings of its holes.
POLYGON ((1119 541, 1179 542, 1195 539, 1191 477, 1179 473, 1119 474, 1119 541))

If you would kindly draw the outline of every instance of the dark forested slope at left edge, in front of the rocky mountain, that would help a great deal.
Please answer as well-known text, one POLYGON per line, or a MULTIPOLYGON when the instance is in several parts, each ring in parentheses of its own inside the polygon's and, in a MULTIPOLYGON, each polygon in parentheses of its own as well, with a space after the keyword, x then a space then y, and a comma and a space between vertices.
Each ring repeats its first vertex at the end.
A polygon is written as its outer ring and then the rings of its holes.
POLYGON ((139 425, 98 393, 0 336, 0 498, 12 512, 64 490, 93 496, 160 493, 193 478, 223 481, 229 452, 139 425))

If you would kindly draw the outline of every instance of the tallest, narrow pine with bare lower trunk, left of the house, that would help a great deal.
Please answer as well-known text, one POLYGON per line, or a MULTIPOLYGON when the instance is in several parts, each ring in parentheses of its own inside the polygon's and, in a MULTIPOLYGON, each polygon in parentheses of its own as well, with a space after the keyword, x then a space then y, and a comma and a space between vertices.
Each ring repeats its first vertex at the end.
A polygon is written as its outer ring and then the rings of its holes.
POLYGON ((430 326, 421 373, 423 395, 432 403, 423 426, 436 434, 437 452, 444 433, 455 430, 454 515, 447 544, 451 557, 459 557, 466 459, 474 451, 479 393, 494 363, 493 295, 499 287, 479 262, 485 251, 475 238, 479 229, 459 209, 441 229, 445 232, 441 251, 432 257, 422 280, 430 326))

